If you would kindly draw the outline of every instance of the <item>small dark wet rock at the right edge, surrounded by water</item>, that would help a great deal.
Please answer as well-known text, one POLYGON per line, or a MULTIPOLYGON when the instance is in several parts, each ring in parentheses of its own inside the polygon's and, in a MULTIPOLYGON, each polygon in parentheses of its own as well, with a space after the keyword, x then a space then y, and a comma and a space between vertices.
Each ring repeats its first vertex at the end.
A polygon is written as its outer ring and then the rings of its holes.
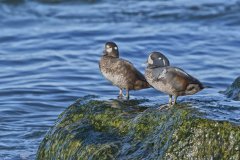
POLYGON ((240 76, 237 77, 234 82, 223 92, 228 98, 233 100, 240 100, 240 76))

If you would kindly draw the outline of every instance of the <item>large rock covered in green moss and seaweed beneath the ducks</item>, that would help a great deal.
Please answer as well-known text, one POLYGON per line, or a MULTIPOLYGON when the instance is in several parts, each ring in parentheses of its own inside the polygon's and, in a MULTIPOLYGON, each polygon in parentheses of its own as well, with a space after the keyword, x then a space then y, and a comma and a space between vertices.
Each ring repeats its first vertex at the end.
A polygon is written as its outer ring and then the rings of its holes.
POLYGON ((159 110, 142 102, 82 98, 59 116, 37 159, 240 159, 239 126, 186 105, 159 110))

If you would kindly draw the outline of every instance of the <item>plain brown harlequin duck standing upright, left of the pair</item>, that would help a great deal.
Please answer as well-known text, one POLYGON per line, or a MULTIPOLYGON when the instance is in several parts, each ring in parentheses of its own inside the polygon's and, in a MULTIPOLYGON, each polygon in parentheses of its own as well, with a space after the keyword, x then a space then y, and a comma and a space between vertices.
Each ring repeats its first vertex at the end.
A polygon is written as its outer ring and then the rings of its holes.
POLYGON ((118 46, 114 42, 105 44, 99 68, 103 76, 120 89, 119 98, 123 98, 123 89, 126 89, 126 98, 129 99, 129 90, 150 87, 144 75, 131 62, 119 58, 118 46))

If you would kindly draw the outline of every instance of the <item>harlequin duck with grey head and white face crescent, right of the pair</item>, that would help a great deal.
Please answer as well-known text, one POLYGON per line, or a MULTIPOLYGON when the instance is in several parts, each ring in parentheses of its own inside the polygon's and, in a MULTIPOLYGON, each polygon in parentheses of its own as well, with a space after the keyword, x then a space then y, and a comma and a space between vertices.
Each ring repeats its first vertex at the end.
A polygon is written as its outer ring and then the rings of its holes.
POLYGON ((155 89, 169 94, 170 106, 176 104, 178 96, 192 95, 204 88, 199 80, 184 70, 170 66, 169 60, 162 53, 152 52, 147 64, 146 80, 155 89))

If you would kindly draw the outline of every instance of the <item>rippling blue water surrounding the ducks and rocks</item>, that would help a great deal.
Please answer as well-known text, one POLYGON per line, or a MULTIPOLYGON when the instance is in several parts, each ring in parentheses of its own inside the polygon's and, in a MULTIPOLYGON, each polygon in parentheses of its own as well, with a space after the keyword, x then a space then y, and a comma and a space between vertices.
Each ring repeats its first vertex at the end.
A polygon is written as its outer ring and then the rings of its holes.
MULTIPOLYGON (((34 159, 79 97, 116 98, 98 70, 109 40, 142 72, 149 52, 163 52, 213 87, 180 102, 240 124, 239 102, 218 93, 240 75, 239 12, 238 0, 0 0, 0 159, 34 159)), ((168 96, 147 89, 131 98, 160 105, 168 96)))

